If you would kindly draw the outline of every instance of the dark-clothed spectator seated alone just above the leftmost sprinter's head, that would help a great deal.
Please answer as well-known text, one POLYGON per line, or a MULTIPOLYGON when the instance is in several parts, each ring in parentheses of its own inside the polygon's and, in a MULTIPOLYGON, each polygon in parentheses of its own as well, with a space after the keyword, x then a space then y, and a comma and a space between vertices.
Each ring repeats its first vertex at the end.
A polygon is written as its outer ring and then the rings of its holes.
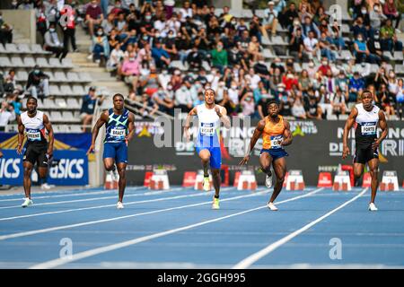
POLYGON ((49 96, 49 76, 40 70, 39 65, 35 65, 28 74, 25 91, 31 92, 31 96, 34 98, 49 96))

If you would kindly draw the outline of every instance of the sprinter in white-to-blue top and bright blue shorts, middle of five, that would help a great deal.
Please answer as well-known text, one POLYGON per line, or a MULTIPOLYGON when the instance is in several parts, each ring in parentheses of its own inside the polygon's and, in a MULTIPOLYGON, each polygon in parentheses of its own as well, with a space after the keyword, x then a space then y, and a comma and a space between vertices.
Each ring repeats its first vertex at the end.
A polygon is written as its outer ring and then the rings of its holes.
POLYGON ((226 128, 230 128, 230 120, 227 117, 226 109, 215 104, 215 91, 212 89, 205 91, 205 103, 198 105, 189 112, 184 126, 184 134, 188 140, 190 138, 189 123, 193 116, 198 116, 199 121, 196 150, 204 168, 204 189, 209 190, 209 174, 207 172, 207 165, 209 164, 215 186, 212 208, 219 209, 220 168, 222 165, 219 139, 220 124, 223 122, 226 128))

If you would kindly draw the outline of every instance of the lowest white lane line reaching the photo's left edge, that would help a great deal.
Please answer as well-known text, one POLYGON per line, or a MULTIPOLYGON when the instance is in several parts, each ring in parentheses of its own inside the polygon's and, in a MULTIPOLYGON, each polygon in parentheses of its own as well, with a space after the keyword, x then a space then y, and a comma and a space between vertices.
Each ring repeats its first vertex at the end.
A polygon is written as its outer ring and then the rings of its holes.
MULTIPOLYGON (((257 191, 262 190, 262 189, 263 188, 258 189, 257 191)), ((233 196, 233 197, 230 197, 230 198, 222 199, 221 201, 224 202, 224 201, 230 201, 230 200, 235 200, 235 199, 244 198, 244 197, 260 196, 260 195, 265 194, 267 192, 268 191, 261 191, 261 192, 256 192, 254 194, 245 195, 245 196, 233 196)), ((204 205, 204 204, 212 204, 212 201, 206 201, 206 202, 198 203, 198 204, 187 204, 187 205, 181 205, 181 206, 177 206, 177 207, 158 209, 158 210, 155 210, 155 211, 152 211, 152 212, 146 212, 146 213, 135 213, 135 214, 125 215, 125 216, 112 217, 112 218, 102 219, 102 220, 99 220, 99 221, 68 224, 68 225, 50 227, 50 228, 41 229, 41 230, 22 231, 22 232, 2 235, 2 236, 0 236, 0 240, 15 239, 15 238, 20 238, 20 237, 25 237, 25 236, 30 236, 30 235, 40 234, 40 233, 47 233, 47 232, 51 232, 51 231, 55 231, 55 230, 66 230, 66 229, 69 229, 69 228, 75 228, 75 227, 91 225, 91 224, 97 224, 97 223, 103 223, 103 222, 114 222, 114 221, 118 221, 118 220, 121 220, 121 219, 132 218, 132 217, 136 217, 136 216, 154 214, 154 213, 164 213, 164 212, 169 212, 169 211, 172 211, 172 210, 184 209, 184 208, 194 207, 194 206, 199 206, 199 205, 204 205)))

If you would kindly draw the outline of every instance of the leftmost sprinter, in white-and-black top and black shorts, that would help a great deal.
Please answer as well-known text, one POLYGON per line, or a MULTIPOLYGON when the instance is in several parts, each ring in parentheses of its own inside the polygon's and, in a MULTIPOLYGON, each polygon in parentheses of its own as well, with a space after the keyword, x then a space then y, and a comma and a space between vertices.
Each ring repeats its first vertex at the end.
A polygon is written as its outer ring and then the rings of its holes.
POLYGON ((53 129, 48 116, 37 109, 38 100, 29 97, 27 100, 27 111, 17 118, 18 122, 18 146, 17 153, 22 153, 22 143, 24 140, 24 130, 27 135, 25 152, 23 156, 24 167, 24 192, 25 200, 22 207, 27 207, 32 203, 31 200, 31 172, 35 163, 38 165, 40 178, 46 178, 48 174, 48 159, 53 153, 53 129), (48 131, 48 141, 46 138, 48 131))

